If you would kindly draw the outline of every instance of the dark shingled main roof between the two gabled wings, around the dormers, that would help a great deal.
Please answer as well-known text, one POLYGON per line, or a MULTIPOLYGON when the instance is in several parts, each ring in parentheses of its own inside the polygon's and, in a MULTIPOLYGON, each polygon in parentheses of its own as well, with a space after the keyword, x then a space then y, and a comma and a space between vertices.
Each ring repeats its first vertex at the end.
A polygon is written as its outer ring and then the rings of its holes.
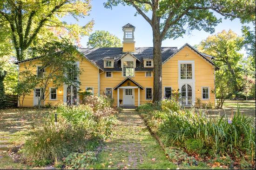
MULTIPOLYGON (((177 51, 177 47, 162 47, 162 62, 168 59, 177 51)), ((122 52, 122 48, 80 48, 80 52, 89 60, 94 62, 104 71, 122 71, 121 61, 117 62, 127 52, 122 52), (103 59, 114 59, 114 68, 104 68, 103 59)), ((135 71, 152 71, 153 68, 144 68, 143 59, 153 59, 153 47, 135 48, 135 52, 130 52, 138 60, 135 71)))

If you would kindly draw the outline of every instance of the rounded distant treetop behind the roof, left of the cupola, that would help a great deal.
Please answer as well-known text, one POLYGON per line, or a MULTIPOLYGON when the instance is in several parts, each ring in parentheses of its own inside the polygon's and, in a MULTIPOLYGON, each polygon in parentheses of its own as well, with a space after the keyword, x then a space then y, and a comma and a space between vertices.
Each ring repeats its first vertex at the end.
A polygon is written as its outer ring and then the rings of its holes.
POLYGON ((87 46, 91 48, 121 47, 122 43, 117 36, 108 31, 95 31, 89 36, 87 46))

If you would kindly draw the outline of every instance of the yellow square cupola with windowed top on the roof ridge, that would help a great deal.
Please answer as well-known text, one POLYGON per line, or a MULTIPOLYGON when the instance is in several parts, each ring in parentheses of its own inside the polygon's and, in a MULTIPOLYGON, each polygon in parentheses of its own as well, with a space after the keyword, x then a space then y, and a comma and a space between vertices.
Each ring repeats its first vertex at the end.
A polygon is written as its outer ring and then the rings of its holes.
POLYGON ((135 52, 135 26, 126 24, 123 28, 123 52, 135 52))

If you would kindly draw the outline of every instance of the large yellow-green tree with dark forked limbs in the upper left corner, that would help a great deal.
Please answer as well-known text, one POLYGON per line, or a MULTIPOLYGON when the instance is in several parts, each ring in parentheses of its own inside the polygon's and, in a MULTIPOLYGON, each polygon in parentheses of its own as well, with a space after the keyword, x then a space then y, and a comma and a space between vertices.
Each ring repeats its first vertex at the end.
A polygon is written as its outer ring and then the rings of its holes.
POLYGON ((67 15, 85 17, 90 11, 90 0, 1 0, 0 24, 10 33, 10 39, 17 59, 26 58, 26 51, 39 33, 45 30, 67 32, 69 37, 79 40, 80 36, 88 35, 93 21, 84 26, 62 22, 61 17, 67 15))

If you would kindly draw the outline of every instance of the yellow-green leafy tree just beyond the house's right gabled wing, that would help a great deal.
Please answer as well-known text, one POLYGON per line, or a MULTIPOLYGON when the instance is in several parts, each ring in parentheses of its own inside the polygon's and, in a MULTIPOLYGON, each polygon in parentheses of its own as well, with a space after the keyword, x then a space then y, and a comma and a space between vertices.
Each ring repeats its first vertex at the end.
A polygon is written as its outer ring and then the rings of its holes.
POLYGON ((240 53, 243 43, 243 37, 232 30, 223 30, 202 40, 197 46, 199 51, 214 56, 213 62, 220 68, 216 71, 216 98, 219 108, 222 108, 225 99, 233 94, 238 97, 244 90, 244 60, 243 54, 240 53))

